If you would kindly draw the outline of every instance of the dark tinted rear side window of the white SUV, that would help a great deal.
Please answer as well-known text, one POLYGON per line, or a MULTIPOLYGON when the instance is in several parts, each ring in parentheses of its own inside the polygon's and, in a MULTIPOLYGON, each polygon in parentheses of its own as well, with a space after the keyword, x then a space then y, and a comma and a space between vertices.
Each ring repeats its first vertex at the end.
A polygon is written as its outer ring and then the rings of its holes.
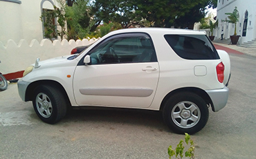
POLYGON ((183 59, 219 59, 206 35, 165 35, 165 40, 183 59))

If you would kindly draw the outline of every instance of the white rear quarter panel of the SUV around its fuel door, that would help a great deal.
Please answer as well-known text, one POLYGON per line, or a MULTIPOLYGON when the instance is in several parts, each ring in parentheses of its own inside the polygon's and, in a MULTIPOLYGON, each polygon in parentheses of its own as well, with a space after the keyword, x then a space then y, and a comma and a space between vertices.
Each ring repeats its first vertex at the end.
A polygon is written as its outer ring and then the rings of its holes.
POLYGON ((164 35, 152 33, 152 40, 160 68, 160 76, 156 96, 149 109, 158 110, 164 97, 178 88, 195 87, 202 90, 223 88, 223 83, 217 79, 216 66, 221 59, 214 60, 188 60, 174 53, 167 44, 164 35), (206 75, 194 75, 195 66, 205 66, 206 75))

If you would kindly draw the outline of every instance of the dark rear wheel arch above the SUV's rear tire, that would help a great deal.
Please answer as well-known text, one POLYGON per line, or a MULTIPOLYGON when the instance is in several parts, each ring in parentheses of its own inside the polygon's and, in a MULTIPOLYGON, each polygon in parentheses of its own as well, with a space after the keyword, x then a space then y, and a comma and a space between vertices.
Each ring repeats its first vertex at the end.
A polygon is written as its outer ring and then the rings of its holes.
POLYGON ((185 88, 178 88, 174 91, 171 91, 167 95, 165 95, 165 97, 163 98, 163 100, 161 102, 160 111, 163 111, 164 104, 168 98, 172 97, 172 95, 175 95, 176 93, 181 93, 181 92, 191 92, 191 93, 195 93, 196 95, 199 95, 200 97, 203 98, 203 100, 205 100, 206 104, 210 104, 210 106, 212 107, 212 110, 213 110, 213 103, 212 103, 212 100, 210 99, 210 96, 208 95, 208 93, 203 91, 203 89, 201 89, 201 88, 185 87, 185 88))

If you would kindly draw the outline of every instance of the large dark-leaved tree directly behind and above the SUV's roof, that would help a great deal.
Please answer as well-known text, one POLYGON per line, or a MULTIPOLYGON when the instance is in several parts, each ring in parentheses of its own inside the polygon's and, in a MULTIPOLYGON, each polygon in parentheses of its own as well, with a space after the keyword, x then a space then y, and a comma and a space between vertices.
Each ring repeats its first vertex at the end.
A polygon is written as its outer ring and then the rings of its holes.
POLYGON ((98 20, 120 23, 123 28, 140 25, 143 19, 153 27, 189 27, 205 17, 205 9, 217 0, 95 0, 93 14, 98 20))

